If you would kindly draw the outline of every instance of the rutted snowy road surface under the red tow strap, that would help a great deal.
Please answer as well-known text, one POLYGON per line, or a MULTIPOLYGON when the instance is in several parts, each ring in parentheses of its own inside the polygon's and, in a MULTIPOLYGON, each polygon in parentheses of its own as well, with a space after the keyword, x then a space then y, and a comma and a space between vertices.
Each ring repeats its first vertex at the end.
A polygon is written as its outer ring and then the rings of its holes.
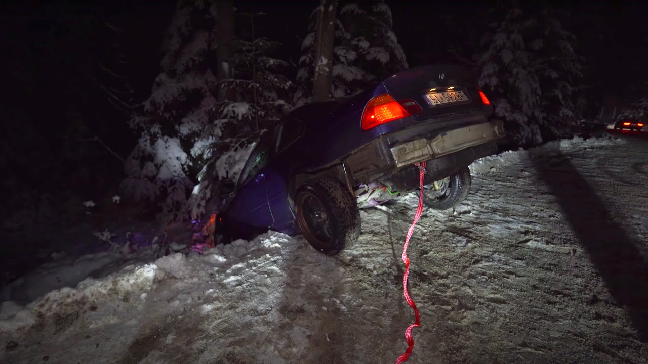
MULTIPOLYGON (((646 155, 590 139, 475 163, 467 202, 415 230, 408 363, 647 363, 646 155)), ((336 257, 268 233, 5 302, 0 362, 393 363, 416 203, 364 210, 336 257)))

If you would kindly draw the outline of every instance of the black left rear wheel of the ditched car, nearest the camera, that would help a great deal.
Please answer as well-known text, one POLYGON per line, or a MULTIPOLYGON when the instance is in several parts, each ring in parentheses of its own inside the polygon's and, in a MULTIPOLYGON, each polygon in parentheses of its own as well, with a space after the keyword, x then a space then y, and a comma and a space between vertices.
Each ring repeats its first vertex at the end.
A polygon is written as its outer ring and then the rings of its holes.
POLYGON ((351 192, 331 178, 305 183, 295 195, 297 224, 308 243, 335 255, 360 236, 360 210, 351 192))

